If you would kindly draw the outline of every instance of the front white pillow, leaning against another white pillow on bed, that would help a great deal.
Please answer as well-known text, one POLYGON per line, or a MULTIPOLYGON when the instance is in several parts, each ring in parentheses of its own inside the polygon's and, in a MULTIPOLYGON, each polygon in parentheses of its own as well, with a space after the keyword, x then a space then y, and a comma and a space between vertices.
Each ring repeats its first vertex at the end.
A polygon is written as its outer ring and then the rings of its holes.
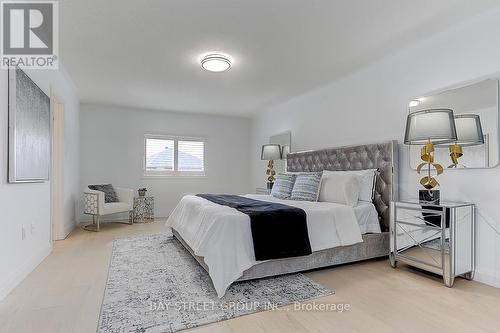
POLYGON ((358 204, 363 177, 355 174, 323 172, 319 200, 354 207, 358 204))

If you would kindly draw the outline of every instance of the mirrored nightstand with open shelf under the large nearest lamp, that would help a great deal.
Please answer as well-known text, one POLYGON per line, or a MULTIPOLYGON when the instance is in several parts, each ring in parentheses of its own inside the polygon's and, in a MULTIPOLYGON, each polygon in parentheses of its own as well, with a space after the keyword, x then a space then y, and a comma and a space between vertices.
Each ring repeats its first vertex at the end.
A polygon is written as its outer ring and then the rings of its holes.
POLYGON ((443 276, 452 287, 455 277, 474 276, 475 206, 400 201, 391 203, 390 261, 401 261, 443 276))

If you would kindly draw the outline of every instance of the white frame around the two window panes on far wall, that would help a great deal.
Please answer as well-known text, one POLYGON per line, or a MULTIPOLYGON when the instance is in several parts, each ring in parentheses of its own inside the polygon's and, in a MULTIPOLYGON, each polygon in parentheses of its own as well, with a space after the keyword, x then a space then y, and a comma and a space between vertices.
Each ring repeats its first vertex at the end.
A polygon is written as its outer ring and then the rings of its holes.
POLYGON ((162 134, 144 134, 144 151, 142 157, 142 170, 143 175, 146 178, 191 178, 191 177, 206 177, 207 176, 207 162, 206 162, 206 152, 207 152, 207 140, 204 137, 196 136, 180 136, 180 135, 162 135, 162 134), (148 170, 146 167, 146 157, 147 157, 147 140, 157 139, 157 140, 171 140, 174 141, 174 170, 148 170), (179 171, 179 141, 196 141, 203 142, 203 171, 179 171))

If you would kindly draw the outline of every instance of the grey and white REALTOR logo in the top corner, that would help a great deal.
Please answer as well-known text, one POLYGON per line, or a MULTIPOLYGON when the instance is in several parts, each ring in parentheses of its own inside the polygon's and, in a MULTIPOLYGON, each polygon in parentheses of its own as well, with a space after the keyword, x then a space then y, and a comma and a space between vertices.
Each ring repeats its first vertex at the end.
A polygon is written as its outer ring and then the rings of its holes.
POLYGON ((57 69, 58 3, 1 2, 1 67, 57 69))

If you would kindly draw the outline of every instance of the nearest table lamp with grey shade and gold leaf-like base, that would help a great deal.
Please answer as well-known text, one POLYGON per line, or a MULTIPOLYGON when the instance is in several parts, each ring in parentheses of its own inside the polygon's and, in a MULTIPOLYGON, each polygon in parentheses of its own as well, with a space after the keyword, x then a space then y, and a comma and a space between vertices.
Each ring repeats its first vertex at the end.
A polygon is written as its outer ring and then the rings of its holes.
POLYGON ((418 165, 417 172, 420 173, 427 166, 427 175, 420 179, 420 184, 426 190, 439 185, 432 175, 432 168, 436 171, 435 176, 443 173, 443 167, 434 161, 434 144, 452 143, 456 140, 453 110, 430 109, 408 114, 404 142, 407 145, 424 145, 420 154, 423 162, 418 165))

